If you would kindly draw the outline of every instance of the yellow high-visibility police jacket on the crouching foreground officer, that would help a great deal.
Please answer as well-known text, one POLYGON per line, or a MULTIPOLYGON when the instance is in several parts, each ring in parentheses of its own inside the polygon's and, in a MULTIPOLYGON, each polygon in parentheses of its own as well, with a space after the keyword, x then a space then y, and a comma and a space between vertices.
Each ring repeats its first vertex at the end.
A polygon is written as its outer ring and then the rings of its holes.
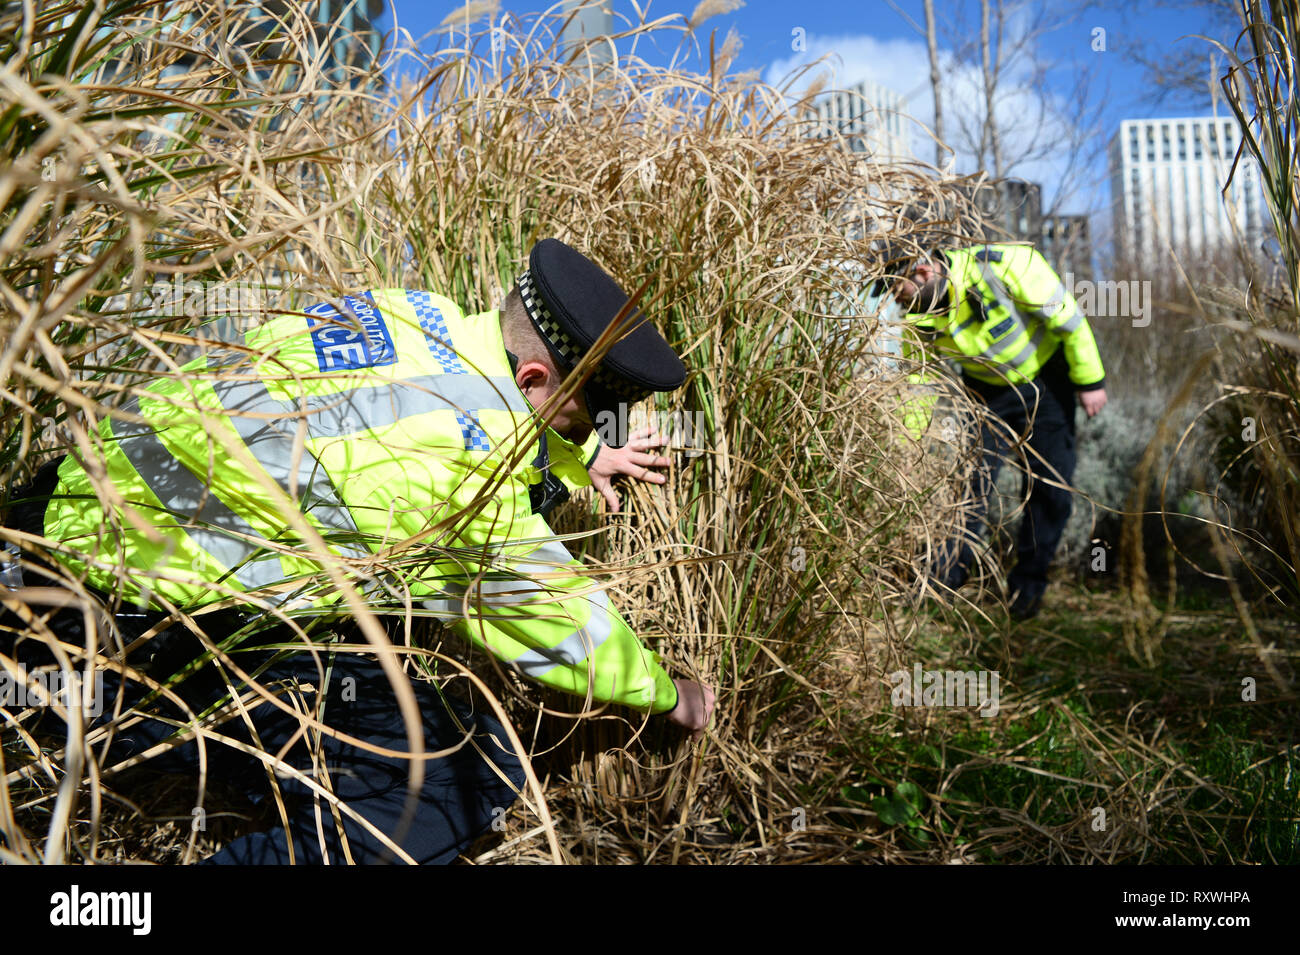
MULTIPOLYGON (((286 517, 300 515, 373 604, 424 607, 559 690, 671 709, 659 657, 533 513, 541 429, 498 313, 428 291, 339 304, 277 316, 242 352, 150 382, 124 407, 139 421, 105 420, 90 473, 74 456, 58 469, 58 559, 139 603, 326 607, 311 535, 286 517)), ((582 448, 545 434, 551 472, 589 483, 595 434, 582 448)))

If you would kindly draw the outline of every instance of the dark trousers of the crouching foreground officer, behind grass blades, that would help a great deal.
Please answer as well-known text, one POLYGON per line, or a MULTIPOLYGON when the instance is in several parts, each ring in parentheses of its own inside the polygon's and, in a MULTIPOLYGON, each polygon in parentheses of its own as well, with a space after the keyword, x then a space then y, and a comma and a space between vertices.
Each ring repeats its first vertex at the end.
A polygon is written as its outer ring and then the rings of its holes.
MULTIPOLYGON (((13 498, 20 499, 20 503, 10 508, 5 525, 40 533, 44 515, 42 498, 48 496, 52 490, 53 469, 46 468, 32 486, 14 492, 13 498)), ((25 570, 25 577, 29 585, 47 583, 39 572, 25 570)), ((124 616, 118 622, 130 637, 144 633, 160 620, 159 613, 146 613, 139 617, 124 616)), ((247 622, 243 613, 234 611, 205 615, 202 620, 208 637, 218 642, 247 622)), ((49 626, 65 642, 83 642, 79 612, 60 611, 53 615, 49 626)), ((20 639, 22 635, 22 621, 5 612, 0 620, 0 654, 16 657, 29 669, 53 661, 43 643, 20 639)), ((277 637, 287 642, 285 634, 277 637)), ((266 642, 265 635, 261 641, 266 642)), ((200 650, 198 639, 177 625, 151 639, 143 659, 131 659, 130 663, 161 681, 198 659, 200 650)), ((255 646, 231 654, 231 659, 246 673, 263 668, 255 677, 261 686, 289 690, 290 696, 281 696, 282 699, 296 698, 311 708, 320 691, 324 696, 324 712, 318 719, 328 726, 376 746, 407 751, 406 728, 396 696, 378 660, 372 655, 344 651, 321 652, 320 657, 322 665, 330 663, 328 682, 324 683, 316 660, 306 651, 286 655, 283 651, 255 646), (294 687, 303 686, 312 689, 294 691, 294 687)), ((234 686, 237 691, 242 689, 238 681, 234 681, 234 686)), ((196 713, 228 693, 225 680, 212 664, 178 682, 176 687, 196 713)), ((514 803, 524 785, 524 770, 508 748, 504 730, 490 713, 472 711, 468 704, 443 696, 436 686, 424 681, 412 681, 412 689, 420 708, 425 751, 463 745, 447 756, 421 760, 424 781, 419 789, 413 817, 396 845, 420 864, 447 863, 486 832, 514 803)), ((124 712, 135 709, 146 717, 114 735, 100 759, 104 768, 146 752, 176 734, 177 729, 165 722, 165 719, 190 719, 169 700, 146 700, 148 693, 138 682, 131 681, 124 687, 110 672, 104 674, 104 712, 90 722, 90 729, 108 722, 120 691, 124 712)), ((57 733, 61 726, 61 720, 46 712, 29 730, 57 733)), ((256 746, 263 752, 282 754, 285 764, 317 783, 325 785, 328 778, 328 789, 334 795, 374 829, 391 838, 406 811, 411 761, 373 754, 325 734, 316 739, 315 733, 302 733, 300 728, 302 721, 296 716, 270 702, 261 702, 250 704, 248 721, 235 716, 216 728, 216 732, 256 746), (251 728, 248 722, 252 724, 251 728)), ((218 778, 244 790, 254 802, 274 798, 261 760, 211 739, 205 748, 209 778, 218 778)), ((100 752, 99 748, 95 751, 100 752)), ((151 756, 146 765, 152 770, 182 773, 196 780, 199 746, 190 741, 151 756)), ((112 778, 109 783, 112 785, 112 778)), ((277 776, 276 786, 278 796, 285 802, 287 829, 280 824, 264 832, 240 835, 208 859, 209 864, 287 864, 291 858, 290 846, 295 863, 341 864, 346 861, 344 842, 358 863, 396 860, 382 839, 342 809, 335 821, 330 802, 316 795, 307 782, 291 774, 281 774, 277 776)), ((203 812, 195 812, 195 819, 205 819, 203 812)))

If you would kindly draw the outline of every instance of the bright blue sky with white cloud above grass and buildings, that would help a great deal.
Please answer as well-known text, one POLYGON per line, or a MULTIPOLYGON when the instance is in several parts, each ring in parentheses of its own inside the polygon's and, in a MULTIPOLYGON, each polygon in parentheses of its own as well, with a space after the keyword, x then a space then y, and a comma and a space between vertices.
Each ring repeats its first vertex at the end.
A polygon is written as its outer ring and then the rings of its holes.
MULTIPOLYGON (((393 0, 396 22, 413 36, 425 36, 436 30, 439 21, 460 3, 447 0, 393 0)), ((636 4, 632 0, 608 0, 615 13, 636 17, 636 4)), ((1040 147, 1052 136, 1053 123, 1063 129, 1076 123, 1079 116, 1095 116, 1096 129, 1088 144, 1104 146, 1105 140, 1118 127, 1121 120, 1154 116, 1201 116, 1210 113, 1210 99, 1206 90, 1200 101, 1156 107, 1150 103, 1144 86, 1141 68, 1130 55, 1130 48, 1138 47, 1148 55, 1178 51, 1190 61, 1204 61, 1209 66, 1210 47, 1204 40, 1187 38, 1188 34, 1213 29, 1213 23, 1196 10, 1169 8, 1149 1, 1124 4, 1122 0, 1106 3, 1050 3, 1043 4, 1045 18, 1040 23, 1045 29, 1035 44, 1043 79, 1030 75, 1027 65, 1013 64, 1009 70, 1006 117, 1010 143, 1009 152, 1015 152, 1017 140, 1024 140, 1022 152, 1028 152, 1031 140, 1040 147), (1104 31, 1104 32, 1098 32, 1104 31), (1104 49, 1096 47, 1104 45, 1104 49), (1091 86, 1080 97, 1075 88, 1076 81, 1091 75, 1091 86), (1018 90, 1022 86, 1024 90, 1018 90), (1018 121, 1027 114, 1022 99, 1030 88, 1046 90, 1048 117, 1035 121, 1034 129, 1017 129, 1018 121), (1019 97, 1019 99, 1018 99, 1019 97), (1045 134, 1044 130, 1048 130, 1045 134)), ((694 8, 693 1, 651 0, 645 4, 647 18, 670 14, 686 14, 694 8)), ((965 23, 965 35, 978 35, 979 4, 976 0, 935 0, 937 18, 941 21, 940 45, 948 58, 950 44, 945 43, 942 31, 965 23)), ((541 3, 502 4, 503 12, 523 14, 543 9, 541 3)), ((918 32, 923 23, 922 0, 748 0, 738 9, 712 17, 701 26, 698 35, 707 49, 708 34, 716 30, 718 44, 722 45, 728 30, 740 34, 742 48, 737 56, 734 70, 759 70, 763 79, 776 83, 801 64, 820 56, 829 56, 835 64, 833 84, 849 84, 859 79, 870 79, 893 88, 906 97, 907 110, 922 122, 932 118, 932 97, 928 83, 928 61, 924 38, 918 32), (802 31, 803 51, 793 49, 796 31, 802 31)), ((380 22, 381 27, 391 27, 389 14, 380 22)), ((426 40, 425 48, 433 48, 437 39, 426 40)), ((646 51, 638 51, 642 56, 646 51)), ((663 52, 664 58, 671 49, 663 52)), ((647 56, 647 58, 651 58, 647 56)), ((697 64, 698 65, 698 61, 697 64)), ((949 101, 945 110, 949 126, 945 139, 953 140, 956 116, 962 112, 963 97, 974 96, 976 74, 958 65, 945 70, 953 88, 946 94, 949 101), (965 87, 965 88, 963 88, 965 87)), ((1035 94, 1037 95, 1037 94, 1035 94)), ((1222 109, 1222 107, 1221 107, 1222 109)), ((933 146, 918 135, 914 139, 916 155, 924 160, 933 159, 933 146)), ((1053 149, 1053 152, 1058 152, 1053 149)), ((958 172, 974 172, 971 156, 958 156, 958 172)), ((1109 196, 1105 185, 1104 153, 1098 151, 1084 174, 1067 175, 1060 156, 1040 156, 1010 170, 1011 174, 1044 183, 1045 197, 1054 199, 1058 186, 1070 183, 1061 199, 1062 212, 1101 212, 1109 196)), ((1095 225, 1105 227, 1095 217, 1095 225)))

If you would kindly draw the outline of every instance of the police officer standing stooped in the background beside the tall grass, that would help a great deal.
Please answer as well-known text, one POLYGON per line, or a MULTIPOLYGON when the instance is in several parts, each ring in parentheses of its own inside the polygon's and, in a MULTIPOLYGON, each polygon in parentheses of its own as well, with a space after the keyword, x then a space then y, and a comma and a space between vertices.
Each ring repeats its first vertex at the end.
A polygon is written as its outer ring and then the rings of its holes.
MULTIPOLYGON (((918 360, 918 342, 928 340, 941 357, 956 359, 976 400, 1013 434, 1027 435, 1036 452, 1017 563, 1008 574, 1011 616, 1032 617, 1070 517, 1075 396, 1088 417, 1106 404, 1106 376, 1092 329, 1060 277, 1030 246, 935 249, 919 260, 894 251, 887 259, 897 275, 890 291, 909 313, 904 357, 918 360)), ((1010 450, 1006 437, 988 424, 980 443, 984 459, 972 477, 975 507, 966 533, 941 550, 933 574, 954 590, 970 576, 971 542, 980 538, 988 495, 1010 450)))

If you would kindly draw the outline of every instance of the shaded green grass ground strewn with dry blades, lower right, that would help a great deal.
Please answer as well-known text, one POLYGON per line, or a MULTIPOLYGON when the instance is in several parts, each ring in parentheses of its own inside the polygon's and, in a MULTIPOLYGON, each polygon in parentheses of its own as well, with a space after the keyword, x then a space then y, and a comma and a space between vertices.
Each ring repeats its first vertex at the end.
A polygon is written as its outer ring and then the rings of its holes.
MULTIPOLYGON (((998 670, 1000 712, 887 695, 846 743, 861 774, 814 783, 840 787, 841 824, 944 860, 1300 861, 1290 667, 1275 656, 1279 690, 1231 607, 1174 613, 1152 668, 1128 654, 1113 592, 1054 587, 1023 624, 985 611, 974 639, 932 621, 915 652, 998 670)), ((1265 646, 1294 639, 1294 624, 1258 625, 1265 646)))

